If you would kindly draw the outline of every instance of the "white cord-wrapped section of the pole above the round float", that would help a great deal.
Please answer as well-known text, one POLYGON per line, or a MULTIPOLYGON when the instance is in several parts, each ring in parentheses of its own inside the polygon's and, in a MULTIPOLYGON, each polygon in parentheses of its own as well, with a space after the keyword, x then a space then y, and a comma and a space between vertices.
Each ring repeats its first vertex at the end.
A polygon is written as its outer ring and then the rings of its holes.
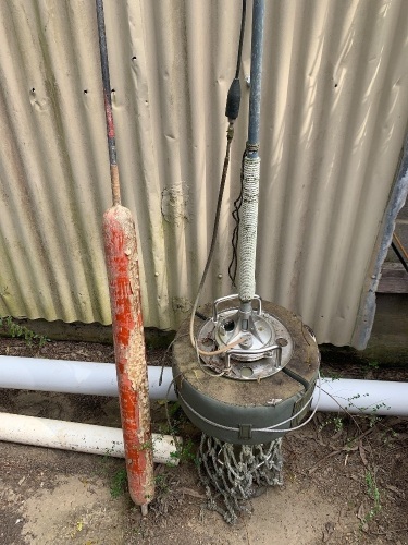
POLYGON ((242 301, 250 301, 255 296, 260 165, 259 157, 244 159, 243 205, 238 232, 238 292, 242 301))

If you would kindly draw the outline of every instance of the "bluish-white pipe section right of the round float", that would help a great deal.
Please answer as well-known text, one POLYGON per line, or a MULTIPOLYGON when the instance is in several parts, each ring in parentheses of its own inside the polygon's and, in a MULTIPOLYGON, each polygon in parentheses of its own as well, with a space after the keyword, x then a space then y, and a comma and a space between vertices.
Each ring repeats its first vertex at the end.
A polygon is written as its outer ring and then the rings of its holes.
MULTIPOLYGON (((316 388, 311 409, 316 408, 318 398, 319 389, 316 388)), ((408 416, 408 383, 322 378, 318 409, 322 412, 408 416)))

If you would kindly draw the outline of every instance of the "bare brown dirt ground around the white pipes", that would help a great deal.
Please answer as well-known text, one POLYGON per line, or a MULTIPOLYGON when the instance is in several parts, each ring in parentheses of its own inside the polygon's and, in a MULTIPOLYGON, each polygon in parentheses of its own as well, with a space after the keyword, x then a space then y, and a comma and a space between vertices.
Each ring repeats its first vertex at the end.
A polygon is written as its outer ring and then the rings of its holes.
MULTIPOLYGON (((0 354, 112 362, 112 347, 0 339, 0 354)), ((163 353, 149 352, 160 364, 163 353)), ((407 380, 408 372, 329 364, 326 375, 407 380)), ((251 499, 234 525, 206 508, 193 455, 200 433, 174 412, 190 452, 157 465, 157 499, 143 519, 126 492, 124 461, 0 441, 0 543, 408 544, 408 419, 317 413, 283 439, 284 485, 251 499)), ((165 426, 152 402, 153 428, 165 426)), ((120 426, 118 399, 0 389, 0 411, 120 426)), ((0 423, 1 425, 1 423, 0 423)))

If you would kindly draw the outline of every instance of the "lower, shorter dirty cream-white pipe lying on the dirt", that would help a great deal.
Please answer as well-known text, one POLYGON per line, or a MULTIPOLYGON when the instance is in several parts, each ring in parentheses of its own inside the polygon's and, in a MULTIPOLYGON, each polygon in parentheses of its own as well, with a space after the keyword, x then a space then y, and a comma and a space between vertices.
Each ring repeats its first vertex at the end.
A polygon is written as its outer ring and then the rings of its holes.
MULTIPOLYGON (((0 413, 0 440, 91 455, 125 457, 122 429, 4 412, 0 413)), ((181 445, 181 437, 152 434, 156 463, 178 464, 175 441, 181 445)))

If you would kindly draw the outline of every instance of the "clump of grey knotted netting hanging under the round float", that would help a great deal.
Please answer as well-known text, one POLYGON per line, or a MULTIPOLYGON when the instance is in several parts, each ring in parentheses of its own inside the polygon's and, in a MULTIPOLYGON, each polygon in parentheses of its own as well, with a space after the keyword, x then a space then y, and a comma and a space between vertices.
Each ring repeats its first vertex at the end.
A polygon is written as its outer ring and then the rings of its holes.
POLYGON ((250 498, 283 484, 282 464, 282 437, 261 445, 233 445, 202 434, 198 474, 207 508, 233 524, 240 512, 251 512, 250 498))

